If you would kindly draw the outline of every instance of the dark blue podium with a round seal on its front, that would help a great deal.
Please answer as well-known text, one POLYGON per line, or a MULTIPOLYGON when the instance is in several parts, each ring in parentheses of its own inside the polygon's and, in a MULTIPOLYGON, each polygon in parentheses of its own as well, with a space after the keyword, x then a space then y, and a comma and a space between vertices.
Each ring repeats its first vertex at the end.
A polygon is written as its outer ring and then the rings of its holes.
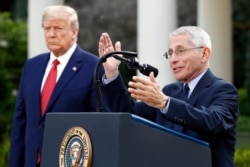
POLYGON ((72 127, 83 128, 89 137, 86 141, 83 136, 82 153, 88 155, 90 163, 82 167, 212 166, 209 144, 204 141, 133 114, 93 112, 46 115, 41 167, 67 167, 66 161, 73 162, 67 144, 72 136, 80 140, 81 137, 67 134, 72 127), (69 157, 63 159, 62 155, 69 157))

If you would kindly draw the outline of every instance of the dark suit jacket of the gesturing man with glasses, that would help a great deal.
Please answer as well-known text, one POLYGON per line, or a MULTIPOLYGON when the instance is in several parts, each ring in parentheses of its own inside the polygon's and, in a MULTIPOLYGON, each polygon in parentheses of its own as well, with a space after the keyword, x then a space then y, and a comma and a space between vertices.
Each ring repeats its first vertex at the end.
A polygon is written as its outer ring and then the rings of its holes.
POLYGON ((215 77, 210 70, 200 79, 187 103, 178 100, 182 88, 181 82, 163 88, 163 92, 171 98, 167 114, 162 114, 159 109, 149 107, 145 103, 132 101, 121 77, 102 87, 102 95, 112 111, 130 111, 167 128, 208 142, 213 167, 233 167, 238 117, 236 88, 215 77))

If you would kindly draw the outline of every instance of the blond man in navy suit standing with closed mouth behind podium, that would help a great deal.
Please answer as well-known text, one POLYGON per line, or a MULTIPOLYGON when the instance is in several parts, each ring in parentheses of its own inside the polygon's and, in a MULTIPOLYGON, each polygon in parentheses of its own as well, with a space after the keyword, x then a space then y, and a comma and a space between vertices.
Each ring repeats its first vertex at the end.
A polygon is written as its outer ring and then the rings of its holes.
POLYGON ((37 55, 24 65, 12 123, 10 167, 39 166, 44 113, 96 110, 93 72, 99 58, 76 44, 76 11, 68 6, 49 6, 44 11, 42 27, 50 52, 37 55), (57 83, 48 104, 41 109, 41 94, 55 59, 60 62, 57 83))

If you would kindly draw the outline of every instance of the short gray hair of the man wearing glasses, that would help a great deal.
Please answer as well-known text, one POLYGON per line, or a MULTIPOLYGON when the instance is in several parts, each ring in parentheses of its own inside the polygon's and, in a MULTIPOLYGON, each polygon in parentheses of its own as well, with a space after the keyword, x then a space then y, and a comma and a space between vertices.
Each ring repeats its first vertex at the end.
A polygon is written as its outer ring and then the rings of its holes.
POLYGON ((211 39, 208 33, 200 27, 197 26, 183 26, 177 28, 169 35, 169 39, 175 35, 188 35, 190 36, 190 42, 194 47, 208 47, 212 50, 211 39))

